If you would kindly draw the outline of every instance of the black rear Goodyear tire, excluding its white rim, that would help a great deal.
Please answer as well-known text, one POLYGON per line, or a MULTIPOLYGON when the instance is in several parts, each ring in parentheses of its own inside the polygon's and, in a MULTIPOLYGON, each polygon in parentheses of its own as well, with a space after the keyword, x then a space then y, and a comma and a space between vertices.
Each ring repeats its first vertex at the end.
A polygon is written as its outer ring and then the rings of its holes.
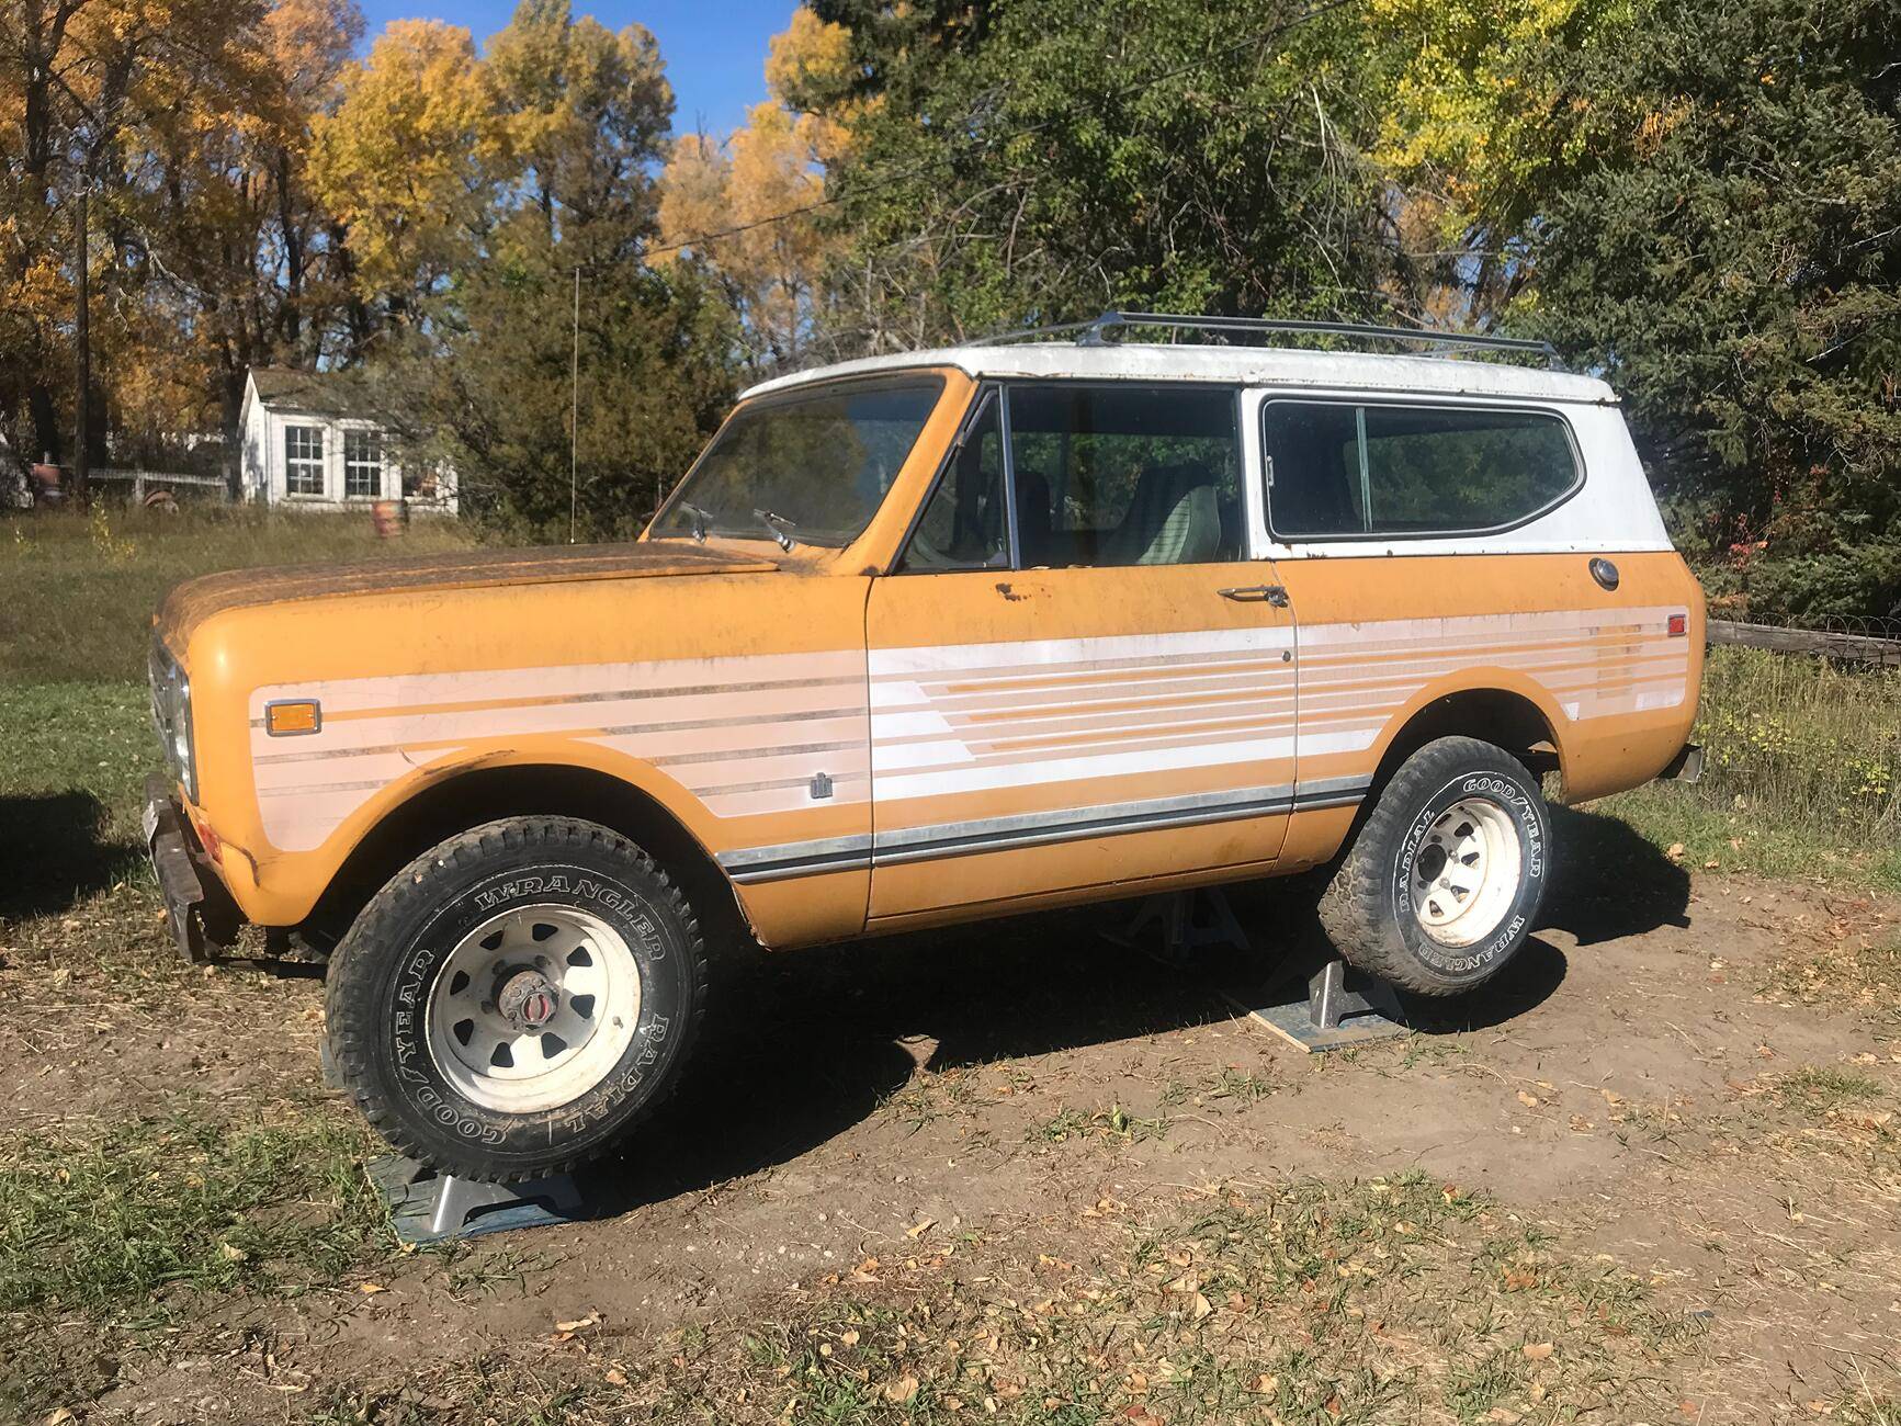
POLYGON ((1460 994, 1511 960, 1530 937, 1551 873, 1551 823, 1538 780, 1502 747, 1437 738, 1380 789, 1319 901, 1321 926, 1348 962, 1418 994, 1460 994), (1414 913, 1409 878, 1433 821, 1462 799, 1502 808, 1517 833, 1517 890, 1496 928, 1464 947, 1441 945, 1414 913))

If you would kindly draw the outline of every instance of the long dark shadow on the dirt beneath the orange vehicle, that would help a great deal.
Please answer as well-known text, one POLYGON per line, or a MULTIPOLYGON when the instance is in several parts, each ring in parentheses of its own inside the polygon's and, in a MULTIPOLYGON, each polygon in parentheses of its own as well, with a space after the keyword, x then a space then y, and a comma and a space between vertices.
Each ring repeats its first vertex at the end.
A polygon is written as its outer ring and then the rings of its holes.
MULTIPOLYGON (((679 1093, 584 1171, 593 1213, 698 1192, 798 1158, 876 1114, 920 1065, 966 1069, 1232 1021, 1238 987, 1266 985, 1327 943, 1304 882, 1226 888, 1251 949, 1169 964, 1116 943, 1137 901, 770 954, 709 1013, 679 1093)), ((1565 954, 1532 939, 1496 981, 1407 1006, 1428 1034, 1523 1015, 1565 981, 1565 954)), ((1285 996, 1306 994, 1302 977, 1285 996)), ((1245 998, 1245 994, 1243 994, 1245 998)))

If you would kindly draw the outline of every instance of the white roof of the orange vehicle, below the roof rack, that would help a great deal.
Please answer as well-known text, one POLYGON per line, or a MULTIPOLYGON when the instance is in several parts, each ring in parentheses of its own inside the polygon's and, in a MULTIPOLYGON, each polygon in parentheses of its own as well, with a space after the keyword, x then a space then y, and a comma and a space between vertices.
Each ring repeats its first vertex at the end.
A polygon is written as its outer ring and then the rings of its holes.
POLYGON ((1424 392, 1431 395, 1507 395, 1534 401, 1614 403, 1616 394, 1595 376, 1473 361, 1443 356, 1378 356, 1371 352, 1306 352, 1272 346, 1190 346, 1154 342, 1006 342, 1002 346, 945 346, 928 352, 836 361, 829 367, 774 376, 741 399, 787 392, 835 376, 869 376, 956 367, 970 376, 1038 380, 1181 380, 1238 386, 1298 386, 1308 390, 1424 392))

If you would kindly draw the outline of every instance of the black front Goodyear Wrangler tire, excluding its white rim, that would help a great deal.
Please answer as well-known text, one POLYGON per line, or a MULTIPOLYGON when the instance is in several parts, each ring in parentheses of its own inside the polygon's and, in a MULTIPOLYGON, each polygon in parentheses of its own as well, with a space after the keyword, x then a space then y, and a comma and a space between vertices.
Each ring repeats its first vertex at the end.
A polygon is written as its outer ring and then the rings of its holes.
POLYGON ((705 998, 700 920, 646 852, 591 821, 511 818, 451 837, 371 899, 331 956, 325 1019, 338 1080, 394 1148, 443 1173, 517 1183, 599 1158, 665 1099, 705 998), (509 901, 599 916, 641 975, 637 1025, 614 1067, 572 1103, 521 1114, 458 1093, 426 1029, 451 949, 509 901))

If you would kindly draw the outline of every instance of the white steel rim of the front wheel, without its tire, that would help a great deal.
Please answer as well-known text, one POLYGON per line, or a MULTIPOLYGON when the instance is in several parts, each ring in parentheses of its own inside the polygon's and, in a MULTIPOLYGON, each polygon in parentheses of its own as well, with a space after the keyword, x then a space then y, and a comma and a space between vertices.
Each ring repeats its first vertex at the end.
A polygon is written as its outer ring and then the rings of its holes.
POLYGON ((568 1105, 620 1063, 641 1019, 622 935, 578 907, 513 907, 464 935, 430 991, 430 1057, 483 1108, 568 1105))

